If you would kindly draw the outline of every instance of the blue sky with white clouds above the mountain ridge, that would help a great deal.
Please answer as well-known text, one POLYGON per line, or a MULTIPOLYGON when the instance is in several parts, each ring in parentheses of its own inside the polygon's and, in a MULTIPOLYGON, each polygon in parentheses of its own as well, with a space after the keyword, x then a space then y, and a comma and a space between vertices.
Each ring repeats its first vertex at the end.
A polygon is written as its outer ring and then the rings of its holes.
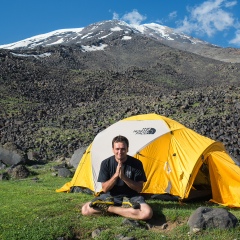
POLYGON ((0 45, 58 29, 119 19, 159 23, 240 48, 240 0, 1 0, 0 45))

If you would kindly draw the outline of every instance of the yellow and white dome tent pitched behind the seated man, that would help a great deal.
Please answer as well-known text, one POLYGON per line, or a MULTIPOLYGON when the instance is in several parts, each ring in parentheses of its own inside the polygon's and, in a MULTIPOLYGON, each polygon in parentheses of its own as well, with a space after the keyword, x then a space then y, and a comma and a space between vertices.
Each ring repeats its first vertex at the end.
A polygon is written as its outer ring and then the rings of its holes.
POLYGON ((129 117, 97 134, 73 179, 57 192, 70 192, 74 186, 101 191, 100 164, 112 155, 112 139, 117 135, 129 139, 128 154, 143 163, 148 180, 142 193, 168 193, 183 200, 190 191, 201 195, 207 189, 211 201, 240 207, 240 168, 224 146, 157 114, 129 117))

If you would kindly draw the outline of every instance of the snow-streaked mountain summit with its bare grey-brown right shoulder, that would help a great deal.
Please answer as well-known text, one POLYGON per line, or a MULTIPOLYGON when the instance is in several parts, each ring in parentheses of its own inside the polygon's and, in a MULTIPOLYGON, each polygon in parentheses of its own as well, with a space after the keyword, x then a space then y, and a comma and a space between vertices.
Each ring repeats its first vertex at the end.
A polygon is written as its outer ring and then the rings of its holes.
POLYGON ((129 25, 111 20, 91 24, 84 28, 61 29, 30 37, 15 43, 0 45, 2 49, 31 50, 56 45, 80 45, 83 52, 104 50, 111 41, 130 41, 133 37, 145 37, 179 50, 225 62, 240 62, 239 49, 224 49, 193 38, 175 29, 157 23, 129 25))

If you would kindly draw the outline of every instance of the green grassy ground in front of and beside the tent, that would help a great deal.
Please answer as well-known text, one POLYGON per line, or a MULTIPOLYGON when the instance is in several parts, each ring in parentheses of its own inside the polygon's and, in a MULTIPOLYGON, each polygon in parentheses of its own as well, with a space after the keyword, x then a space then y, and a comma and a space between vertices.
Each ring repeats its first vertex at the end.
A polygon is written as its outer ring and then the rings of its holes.
MULTIPOLYGON (((50 164, 49 164, 50 165, 50 164)), ((154 210, 155 227, 150 230, 122 226, 119 216, 82 216, 81 206, 92 196, 84 193, 57 193, 55 190, 71 179, 54 177, 43 166, 24 180, 0 182, 0 239, 1 240, 56 240, 91 239, 91 233, 103 231, 97 239, 114 239, 121 234, 136 239, 240 239, 240 228, 233 230, 205 230, 188 236, 187 219, 199 206, 208 203, 163 202, 147 200, 154 210), (39 180, 34 180, 38 177, 39 180), (161 229, 168 223, 165 230, 161 229)), ((214 207, 219 207, 214 205, 214 207)), ((239 219, 240 212, 230 211, 239 219)), ((151 223, 151 221, 150 221, 151 223)), ((145 222, 143 222, 145 224, 145 222)))

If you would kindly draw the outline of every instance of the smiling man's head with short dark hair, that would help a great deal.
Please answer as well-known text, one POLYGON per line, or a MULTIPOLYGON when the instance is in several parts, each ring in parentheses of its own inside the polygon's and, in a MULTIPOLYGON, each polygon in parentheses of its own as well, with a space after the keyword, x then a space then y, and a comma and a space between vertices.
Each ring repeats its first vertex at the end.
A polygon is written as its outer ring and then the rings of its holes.
POLYGON ((117 162, 125 162, 127 160, 129 142, 124 136, 116 136, 112 140, 112 149, 117 162))

